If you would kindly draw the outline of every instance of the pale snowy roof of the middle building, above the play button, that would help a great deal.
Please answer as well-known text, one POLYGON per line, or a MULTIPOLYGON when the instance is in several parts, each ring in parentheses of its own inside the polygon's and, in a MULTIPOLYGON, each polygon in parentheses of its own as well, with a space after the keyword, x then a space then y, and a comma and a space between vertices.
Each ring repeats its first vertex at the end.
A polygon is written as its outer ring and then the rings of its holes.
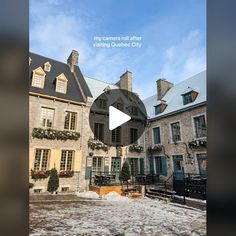
POLYGON ((110 89, 119 89, 117 85, 103 82, 101 80, 93 79, 90 77, 85 76, 84 77, 91 93, 93 96, 93 99, 95 100, 99 95, 101 95, 104 92, 104 89, 109 87, 110 89))

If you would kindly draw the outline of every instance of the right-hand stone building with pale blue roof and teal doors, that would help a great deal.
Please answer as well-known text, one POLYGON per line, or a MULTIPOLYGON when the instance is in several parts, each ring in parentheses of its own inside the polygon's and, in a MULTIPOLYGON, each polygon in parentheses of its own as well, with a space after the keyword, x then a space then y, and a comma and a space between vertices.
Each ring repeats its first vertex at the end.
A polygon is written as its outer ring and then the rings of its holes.
POLYGON ((161 179, 183 172, 206 177, 206 71, 176 85, 159 79, 144 100, 149 115, 146 167, 161 179))

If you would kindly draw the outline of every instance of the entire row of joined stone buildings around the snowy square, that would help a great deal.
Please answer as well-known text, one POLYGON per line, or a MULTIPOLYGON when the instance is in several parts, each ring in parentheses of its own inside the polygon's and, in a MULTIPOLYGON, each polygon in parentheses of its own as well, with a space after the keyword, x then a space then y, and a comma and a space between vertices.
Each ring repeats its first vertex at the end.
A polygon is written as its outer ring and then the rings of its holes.
MULTIPOLYGON (((108 116, 95 113, 95 122, 89 124, 91 105, 100 94, 132 91, 132 72, 110 84, 83 76, 75 50, 67 63, 30 53, 29 83, 31 192, 47 191, 48 171, 54 167, 59 191, 88 190, 91 173, 119 172, 125 160, 133 175, 151 172, 163 180, 173 172, 181 177, 183 170, 206 175, 205 72, 176 85, 157 81, 157 94, 143 101, 149 119, 138 140, 136 123, 111 132, 108 116), (122 146, 121 139, 131 144, 122 146)), ((101 99, 101 108, 105 102, 101 99)), ((117 109, 124 105, 122 98, 115 101, 117 109)))

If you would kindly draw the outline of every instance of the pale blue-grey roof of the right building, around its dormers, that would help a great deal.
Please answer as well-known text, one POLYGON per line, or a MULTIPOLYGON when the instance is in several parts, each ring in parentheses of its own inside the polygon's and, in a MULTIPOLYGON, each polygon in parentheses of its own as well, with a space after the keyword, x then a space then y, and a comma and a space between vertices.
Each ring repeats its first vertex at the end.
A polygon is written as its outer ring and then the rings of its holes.
POLYGON ((176 85, 174 85, 162 98, 162 100, 166 101, 167 107, 166 109, 155 115, 154 106, 160 104, 160 100, 157 100, 157 95, 152 95, 143 100, 147 114, 149 118, 158 118, 163 115, 170 115, 173 112, 181 111, 185 108, 190 108, 192 106, 197 106, 206 102, 206 71, 202 71, 176 85), (198 96, 194 102, 188 103, 186 105, 183 104, 183 93, 189 90, 194 90, 198 92, 198 96))

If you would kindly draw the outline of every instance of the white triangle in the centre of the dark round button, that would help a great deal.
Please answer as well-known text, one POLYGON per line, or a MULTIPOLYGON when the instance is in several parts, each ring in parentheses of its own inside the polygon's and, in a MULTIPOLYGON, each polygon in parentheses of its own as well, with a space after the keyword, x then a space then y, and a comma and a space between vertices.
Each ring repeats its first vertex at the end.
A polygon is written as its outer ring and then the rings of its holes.
POLYGON ((126 115, 124 112, 109 106, 109 130, 113 130, 118 126, 123 125, 131 119, 131 116, 126 115))

